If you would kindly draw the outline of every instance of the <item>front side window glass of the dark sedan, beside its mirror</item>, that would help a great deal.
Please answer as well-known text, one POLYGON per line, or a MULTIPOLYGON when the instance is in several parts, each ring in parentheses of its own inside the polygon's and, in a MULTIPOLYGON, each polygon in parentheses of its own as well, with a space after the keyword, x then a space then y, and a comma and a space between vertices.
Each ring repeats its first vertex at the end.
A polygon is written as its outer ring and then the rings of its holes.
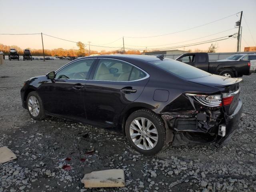
POLYGON ((76 61, 56 73, 57 79, 88 79, 89 70, 95 59, 84 59, 76 61))

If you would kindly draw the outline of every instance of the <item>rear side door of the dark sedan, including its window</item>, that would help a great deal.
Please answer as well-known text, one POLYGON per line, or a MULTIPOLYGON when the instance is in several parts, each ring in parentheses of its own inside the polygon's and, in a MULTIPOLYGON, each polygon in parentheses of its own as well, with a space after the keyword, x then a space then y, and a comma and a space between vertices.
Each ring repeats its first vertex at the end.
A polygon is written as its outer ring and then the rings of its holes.
POLYGON ((149 75, 128 62, 101 58, 94 75, 86 82, 87 119, 105 126, 116 126, 124 107, 136 100, 149 75))

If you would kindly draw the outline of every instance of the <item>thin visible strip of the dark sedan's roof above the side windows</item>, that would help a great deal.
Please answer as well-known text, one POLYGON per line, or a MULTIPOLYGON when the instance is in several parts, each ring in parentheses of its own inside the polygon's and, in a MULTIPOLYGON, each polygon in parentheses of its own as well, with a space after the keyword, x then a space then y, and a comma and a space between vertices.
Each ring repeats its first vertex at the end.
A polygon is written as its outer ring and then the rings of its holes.
MULTIPOLYGON (((151 55, 130 55, 130 54, 113 54, 113 55, 97 55, 97 56, 88 56, 83 58, 112 58, 112 59, 126 59, 126 58, 132 58, 132 59, 138 59, 138 60, 144 60, 144 61, 156 61, 160 60, 156 56, 151 55)), ((81 59, 81 58, 80 58, 81 59)), ((164 58, 166 60, 171 60, 169 58, 164 58)))

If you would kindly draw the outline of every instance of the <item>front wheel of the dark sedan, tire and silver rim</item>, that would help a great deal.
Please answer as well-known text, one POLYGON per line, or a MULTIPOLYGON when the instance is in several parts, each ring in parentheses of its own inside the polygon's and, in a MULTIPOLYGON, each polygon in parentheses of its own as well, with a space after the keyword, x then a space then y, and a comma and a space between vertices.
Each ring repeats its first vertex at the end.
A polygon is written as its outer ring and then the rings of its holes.
POLYGON ((26 106, 27 106, 28 113, 33 119, 43 120, 47 117, 44 112, 42 99, 40 98, 37 92, 32 91, 28 94, 27 100, 26 100, 26 106))

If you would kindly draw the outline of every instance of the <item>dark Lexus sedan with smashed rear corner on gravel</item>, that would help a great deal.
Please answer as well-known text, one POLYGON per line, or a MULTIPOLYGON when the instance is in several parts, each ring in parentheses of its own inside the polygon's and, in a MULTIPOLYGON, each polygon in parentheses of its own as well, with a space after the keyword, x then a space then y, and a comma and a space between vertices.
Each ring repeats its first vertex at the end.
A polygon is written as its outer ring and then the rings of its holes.
POLYGON ((225 144, 242 112, 241 78, 145 55, 80 58, 26 80, 22 106, 42 120, 62 117, 116 127, 142 154, 165 144, 225 144))

